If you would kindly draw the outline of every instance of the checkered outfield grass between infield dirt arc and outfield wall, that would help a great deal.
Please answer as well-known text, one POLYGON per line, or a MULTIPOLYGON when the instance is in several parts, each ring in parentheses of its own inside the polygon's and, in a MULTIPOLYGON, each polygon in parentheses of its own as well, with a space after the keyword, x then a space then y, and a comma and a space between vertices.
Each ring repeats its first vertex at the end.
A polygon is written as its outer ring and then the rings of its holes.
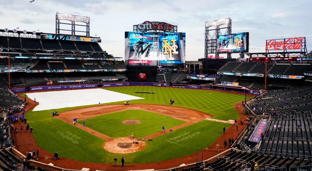
MULTIPOLYGON (((142 97, 144 99, 131 100, 131 103, 163 104, 168 105, 170 99, 174 99, 177 107, 195 109, 210 113, 212 118, 220 120, 235 120, 240 117, 233 104, 245 100, 245 95, 236 95, 209 90, 179 89, 157 86, 127 86, 104 88, 128 95, 142 97), (155 92, 155 94, 134 93, 135 91, 155 92)), ((251 96, 247 96, 247 99, 251 96)), ((113 102, 109 104, 121 104, 113 102)))

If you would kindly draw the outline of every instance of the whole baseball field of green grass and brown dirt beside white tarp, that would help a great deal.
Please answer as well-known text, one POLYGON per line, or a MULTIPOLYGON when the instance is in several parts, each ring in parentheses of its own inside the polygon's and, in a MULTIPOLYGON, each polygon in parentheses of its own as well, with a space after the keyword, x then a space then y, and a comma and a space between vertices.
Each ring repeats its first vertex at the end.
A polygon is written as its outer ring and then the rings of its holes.
MULTIPOLYGON (((231 126, 222 121, 240 117, 234 104, 245 99, 245 95, 226 92, 156 86, 103 89, 138 98, 130 100, 130 105, 127 106, 120 100, 102 103, 100 106, 92 104, 30 111, 26 117, 34 128, 32 133, 37 145, 51 154, 57 151, 61 157, 82 162, 114 163, 114 158, 121 157, 125 157, 127 163, 175 159, 212 145, 223 134, 223 127, 231 126), (135 91, 155 94, 139 94, 135 91), (170 105, 170 99, 174 99, 176 105, 170 105), (52 117, 51 113, 55 110, 60 115, 52 117), (78 120, 77 125, 72 124, 75 117, 78 120), (162 126, 165 127, 165 132, 162 126), (124 154, 109 152, 103 148, 105 143, 120 137, 129 138, 132 134, 134 141, 140 139, 139 144, 144 143, 144 147, 124 154), (141 141, 143 138, 146 141, 141 141)), ((105 94, 102 96, 106 99, 112 98, 105 94)), ((64 99, 66 96, 46 98, 64 99)), ((84 100, 84 96, 77 93, 75 98, 84 100)))

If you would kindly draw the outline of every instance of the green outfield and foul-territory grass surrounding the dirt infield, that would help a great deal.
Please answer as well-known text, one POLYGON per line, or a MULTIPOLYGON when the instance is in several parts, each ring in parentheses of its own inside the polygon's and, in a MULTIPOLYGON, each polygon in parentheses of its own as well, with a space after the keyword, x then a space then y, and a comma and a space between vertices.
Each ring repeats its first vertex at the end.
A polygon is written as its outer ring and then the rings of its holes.
MULTIPOLYGON (((213 118, 221 120, 238 118, 239 114, 233 107, 233 104, 241 102, 245 99, 244 95, 234 95, 209 90, 163 88, 152 86, 129 86, 105 89, 145 98, 131 100, 130 104, 139 103, 168 105, 170 103, 170 99, 175 99, 177 107, 200 110, 214 115, 213 118), (155 92, 155 94, 137 94, 134 93, 134 91, 149 91, 155 92)), ((249 96, 247 98, 249 98, 249 96)), ((123 104, 123 102, 110 104, 123 104)), ((62 111, 77 108, 81 108, 81 106, 56 110, 60 113, 62 111)), ((33 135, 38 146, 51 152, 51 157, 52 154, 57 151, 61 157, 84 162, 113 163, 113 159, 118 158, 118 162, 120 164, 120 158, 126 157, 126 163, 146 163, 191 155, 210 146, 223 133, 223 127, 228 128, 231 126, 226 123, 204 120, 193 125, 183 127, 179 130, 174 130, 173 132, 163 136, 156 137, 153 141, 147 141, 146 147, 141 151, 120 155, 104 150, 102 147, 105 142, 104 140, 71 124, 61 121, 60 119, 52 117, 52 111, 54 110, 32 111, 26 114, 27 121, 30 126, 33 127, 33 135), (185 134, 185 132, 187 132, 187 134, 185 134), (181 137, 180 134, 185 134, 185 136, 187 136, 194 134, 194 132, 200 133, 192 136, 192 138, 186 138, 183 141, 175 141, 182 139, 177 138, 178 136, 181 137)), ((88 123, 89 121, 86 122, 86 124, 88 123)), ((138 126, 139 125, 140 124, 138 124, 138 126)), ((160 129, 158 126, 155 126, 155 128, 157 130, 160 129)), ((118 131, 120 130, 112 130, 112 132, 118 131)), ((25 153, 25 151, 23 153, 25 153)))

